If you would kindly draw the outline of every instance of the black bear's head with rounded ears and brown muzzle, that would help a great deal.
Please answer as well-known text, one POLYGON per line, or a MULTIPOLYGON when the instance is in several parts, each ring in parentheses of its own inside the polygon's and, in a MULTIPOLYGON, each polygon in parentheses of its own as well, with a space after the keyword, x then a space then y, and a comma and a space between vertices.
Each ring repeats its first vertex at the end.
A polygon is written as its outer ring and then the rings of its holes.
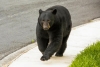
POLYGON ((52 27, 56 13, 56 9, 46 11, 39 10, 38 22, 44 30, 49 30, 52 27))

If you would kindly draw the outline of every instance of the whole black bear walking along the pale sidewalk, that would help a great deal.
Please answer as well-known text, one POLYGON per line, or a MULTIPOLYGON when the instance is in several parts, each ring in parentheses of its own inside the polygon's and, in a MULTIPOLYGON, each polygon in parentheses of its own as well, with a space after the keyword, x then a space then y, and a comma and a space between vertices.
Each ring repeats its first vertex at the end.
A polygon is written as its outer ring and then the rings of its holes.
POLYGON ((71 16, 65 7, 57 5, 39 10, 36 37, 42 61, 50 59, 55 52, 55 56, 63 56, 71 27, 71 16))

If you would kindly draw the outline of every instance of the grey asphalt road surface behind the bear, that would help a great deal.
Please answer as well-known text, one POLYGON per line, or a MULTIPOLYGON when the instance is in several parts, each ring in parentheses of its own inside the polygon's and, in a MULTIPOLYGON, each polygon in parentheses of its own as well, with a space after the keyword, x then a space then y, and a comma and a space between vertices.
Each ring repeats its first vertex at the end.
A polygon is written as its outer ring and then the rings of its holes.
POLYGON ((0 60, 35 37, 38 10, 63 5, 73 27, 100 17, 100 0, 0 0, 0 60))

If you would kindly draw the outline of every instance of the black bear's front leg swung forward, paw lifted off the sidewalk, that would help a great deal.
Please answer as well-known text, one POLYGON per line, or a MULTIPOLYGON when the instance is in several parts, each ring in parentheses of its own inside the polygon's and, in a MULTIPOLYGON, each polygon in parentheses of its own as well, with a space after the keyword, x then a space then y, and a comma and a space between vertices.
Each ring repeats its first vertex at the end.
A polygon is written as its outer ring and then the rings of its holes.
POLYGON ((46 60, 50 59, 50 57, 56 51, 58 51, 58 49, 60 48, 60 46, 62 44, 62 39, 63 39, 62 33, 57 33, 57 32, 51 33, 51 35, 50 35, 51 43, 47 47, 45 52, 43 53, 43 56, 41 57, 42 61, 46 61, 46 60))

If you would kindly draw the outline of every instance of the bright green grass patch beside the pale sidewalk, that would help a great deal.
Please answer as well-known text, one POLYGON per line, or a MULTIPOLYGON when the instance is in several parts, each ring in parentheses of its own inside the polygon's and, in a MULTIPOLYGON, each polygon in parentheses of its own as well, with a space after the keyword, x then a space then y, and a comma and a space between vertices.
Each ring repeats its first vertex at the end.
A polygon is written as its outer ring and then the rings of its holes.
POLYGON ((100 41, 81 51, 69 67, 100 67, 100 41))

